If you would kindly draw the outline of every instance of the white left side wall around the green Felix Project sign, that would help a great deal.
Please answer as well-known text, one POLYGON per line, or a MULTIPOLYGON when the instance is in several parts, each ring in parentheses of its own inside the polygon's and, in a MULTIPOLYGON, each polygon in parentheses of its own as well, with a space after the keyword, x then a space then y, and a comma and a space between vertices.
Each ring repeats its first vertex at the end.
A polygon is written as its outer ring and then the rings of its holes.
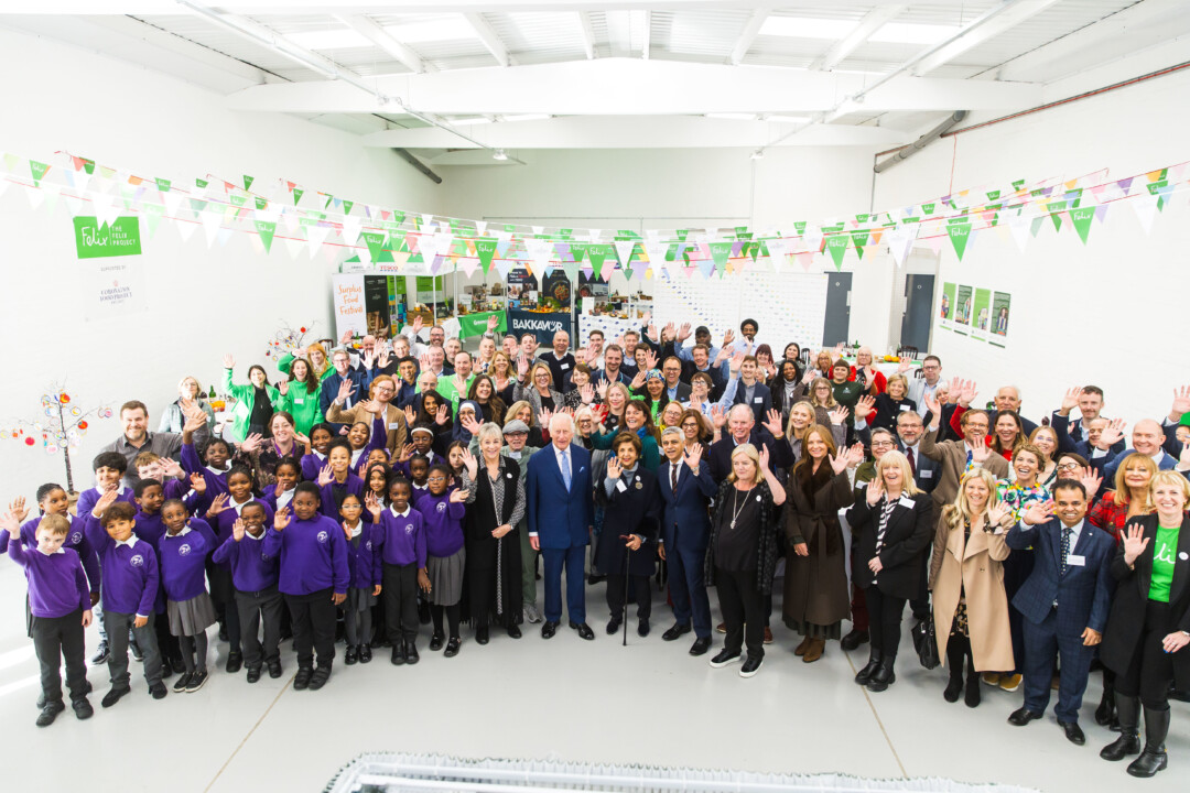
MULTIPOLYGON (((0 73, 7 152, 57 162, 54 152, 67 150, 171 180, 250 174, 253 189, 283 177, 369 203, 441 209, 440 190, 387 150, 289 117, 230 112, 220 96, 117 59, 0 30, 0 73)), ((332 327, 334 268, 325 257, 294 260, 280 243, 257 254, 243 234, 207 250, 202 231, 182 243, 168 224, 152 239, 143 233, 148 310, 87 322, 64 203, 35 212, 20 188, 0 196, 0 335, 10 360, 0 421, 36 417, 43 388, 68 378, 86 404, 143 399, 156 428, 181 376, 209 383, 231 352, 243 377, 283 322, 332 327)), ((95 449, 118 433, 115 420, 92 422, 75 455, 76 486, 90 482, 95 449)), ((13 441, 0 441, 0 470, 29 496, 65 479, 57 457, 13 441)))

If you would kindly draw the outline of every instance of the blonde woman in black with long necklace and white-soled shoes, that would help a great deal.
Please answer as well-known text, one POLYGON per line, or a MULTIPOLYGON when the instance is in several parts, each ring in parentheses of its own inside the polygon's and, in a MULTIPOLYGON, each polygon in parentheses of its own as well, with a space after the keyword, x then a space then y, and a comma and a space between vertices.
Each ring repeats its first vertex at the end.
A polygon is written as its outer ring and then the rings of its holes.
POLYGON ((751 678, 764 661, 764 606, 777 567, 777 506, 784 501, 785 490, 769 467, 768 449, 757 454, 751 443, 737 446, 732 472, 715 496, 703 580, 719 592, 727 632, 710 666, 718 669, 741 660, 746 642, 741 678, 751 678))

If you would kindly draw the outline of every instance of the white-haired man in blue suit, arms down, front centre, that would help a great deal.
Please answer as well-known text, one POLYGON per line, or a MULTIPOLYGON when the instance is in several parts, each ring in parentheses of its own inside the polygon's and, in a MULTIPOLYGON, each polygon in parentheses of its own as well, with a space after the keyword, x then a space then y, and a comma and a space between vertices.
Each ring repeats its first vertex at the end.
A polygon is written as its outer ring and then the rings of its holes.
POLYGON ((595 638, 587 624, 583 559, 595 522, 591 455, 572 446, 574 420, 550 418, 551 443, 528 461, 525 478, 525 518, 528 542, 545 564, 545 624, 541 637, 552 638, 562 622, 562 568, 566 569, 566 612, 570 627, 583 638, 595 638))

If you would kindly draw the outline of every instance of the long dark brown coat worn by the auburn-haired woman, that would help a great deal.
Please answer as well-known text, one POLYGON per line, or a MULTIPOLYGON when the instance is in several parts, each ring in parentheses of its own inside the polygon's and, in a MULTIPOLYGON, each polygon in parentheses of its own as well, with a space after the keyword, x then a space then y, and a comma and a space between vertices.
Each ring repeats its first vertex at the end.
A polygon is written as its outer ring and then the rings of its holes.
MULTIPOLYGON (((822 461, 821 465, 829 465, 822 461)), ((851 598, 847 592, 847 555, 839 525, 839 510, 851 506, 852 491, 847 473, 831 477, 807 501, 795 477, 785 485, 785 624, 833 625, 847 618, 851 598), (810 555, 800 556, 794 546, 804 542, 810 555)))

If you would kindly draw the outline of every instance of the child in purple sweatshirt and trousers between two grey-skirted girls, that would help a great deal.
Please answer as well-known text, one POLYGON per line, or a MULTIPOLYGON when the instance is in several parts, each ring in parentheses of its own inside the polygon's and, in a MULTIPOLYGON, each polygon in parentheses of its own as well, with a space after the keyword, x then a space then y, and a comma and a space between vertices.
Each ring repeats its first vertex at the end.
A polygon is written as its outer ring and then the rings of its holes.
POLYGON ((375 496, 367 501, 376 531, 372 554, 380 567, 384 594, 384 621, 388 641, 393 643, 393 663, 416 663, 418 587, 430 592, 426 575, 426 534, 421 512, 409 505, 413 489, 408 479, 396 478, 388 486, 388 508, 375 496))

